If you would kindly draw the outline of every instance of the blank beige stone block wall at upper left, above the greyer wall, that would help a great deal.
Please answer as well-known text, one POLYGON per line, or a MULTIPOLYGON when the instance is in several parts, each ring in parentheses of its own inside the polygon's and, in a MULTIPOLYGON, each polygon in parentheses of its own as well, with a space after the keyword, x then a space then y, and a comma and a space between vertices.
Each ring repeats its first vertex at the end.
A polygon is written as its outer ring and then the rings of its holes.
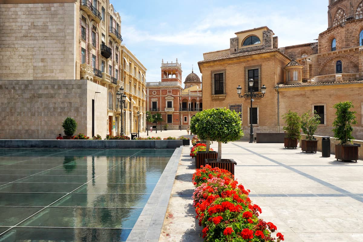
POLYGON ((0 80, 75 79, 75 6, 1 4, 0 80))

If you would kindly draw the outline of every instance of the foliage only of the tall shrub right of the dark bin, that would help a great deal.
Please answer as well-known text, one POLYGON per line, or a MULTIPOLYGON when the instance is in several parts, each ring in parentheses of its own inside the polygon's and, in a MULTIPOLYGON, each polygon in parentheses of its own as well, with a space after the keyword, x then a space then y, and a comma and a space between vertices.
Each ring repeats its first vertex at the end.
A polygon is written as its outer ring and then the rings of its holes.
POLYGON ((352 136, 352 124, 356 124, 357 120, 355 117, 356 112, 349 110, 354 106, 352 102, 346 101, 337 103, 333 107, 337 110, 337 112, 335 112, 337 117, 333 122, 333 126, 335 127, 333 128, 334 138, 340 140, 340 144, 351 143, 351 141, 354 140, 354 137, 352 136))

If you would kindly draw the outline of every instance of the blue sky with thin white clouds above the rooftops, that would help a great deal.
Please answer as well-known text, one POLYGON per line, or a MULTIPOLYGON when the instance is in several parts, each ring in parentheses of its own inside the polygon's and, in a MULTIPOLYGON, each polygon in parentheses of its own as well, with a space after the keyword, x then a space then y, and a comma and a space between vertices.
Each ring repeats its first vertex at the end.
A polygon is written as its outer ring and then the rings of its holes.
POLYGON ((268 26, 279 47, 314 42, 327 29, 328 0, 116 1, 123 44, 147 68, 148 82, 160 81, 160 65, 181 63, 183 82, 203 53, 228 49, 235 32, 268 26))

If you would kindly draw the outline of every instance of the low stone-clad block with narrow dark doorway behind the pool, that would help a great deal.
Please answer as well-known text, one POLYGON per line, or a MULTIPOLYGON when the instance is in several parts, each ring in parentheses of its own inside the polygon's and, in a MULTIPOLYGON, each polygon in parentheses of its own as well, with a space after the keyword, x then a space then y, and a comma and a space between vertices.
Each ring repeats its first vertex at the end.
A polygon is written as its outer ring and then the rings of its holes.
POLYGON ((86 80, 0 81, 0 138, 55 139, 70 116, 76 134, 91 136, 92 100, 95 134, 107 132, 107 89, 86 80), (100 93, 95 93, 95 92, 100 93))

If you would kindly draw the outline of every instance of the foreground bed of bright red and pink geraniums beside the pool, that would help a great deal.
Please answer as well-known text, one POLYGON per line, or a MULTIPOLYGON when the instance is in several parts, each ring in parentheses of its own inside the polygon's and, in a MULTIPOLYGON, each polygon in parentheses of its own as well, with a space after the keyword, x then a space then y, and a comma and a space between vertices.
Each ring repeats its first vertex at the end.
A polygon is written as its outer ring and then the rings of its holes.
POLYGON ((193 206, 203 226, 203 238, 208 242, 280 242, 284 235, 277 233, 272 222, 258 218, 261 208, 252 204, 249 190, 233 180, 226 170, 209 165, 197 169, 193 175, 195 191, 193 206))

